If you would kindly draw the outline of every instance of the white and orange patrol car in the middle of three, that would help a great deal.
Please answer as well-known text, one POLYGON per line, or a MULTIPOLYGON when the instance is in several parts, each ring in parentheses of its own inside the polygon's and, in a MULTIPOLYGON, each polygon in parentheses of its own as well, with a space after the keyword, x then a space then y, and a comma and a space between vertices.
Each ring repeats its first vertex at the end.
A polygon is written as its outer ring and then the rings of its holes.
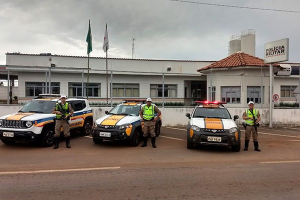
MULTIPOLYGON (((137 146, 142 136, 142 125, 139 111, 144 101, 127 99, 113 107, 104 116, 95 120, 91 131, 94 143, 106 140, 128 141, 131 146, 137 146)), ((155 113, 155 116, 157 113, 155 113)), ((161 117, 155 123, 155 134, 160 134, 161 117)))

